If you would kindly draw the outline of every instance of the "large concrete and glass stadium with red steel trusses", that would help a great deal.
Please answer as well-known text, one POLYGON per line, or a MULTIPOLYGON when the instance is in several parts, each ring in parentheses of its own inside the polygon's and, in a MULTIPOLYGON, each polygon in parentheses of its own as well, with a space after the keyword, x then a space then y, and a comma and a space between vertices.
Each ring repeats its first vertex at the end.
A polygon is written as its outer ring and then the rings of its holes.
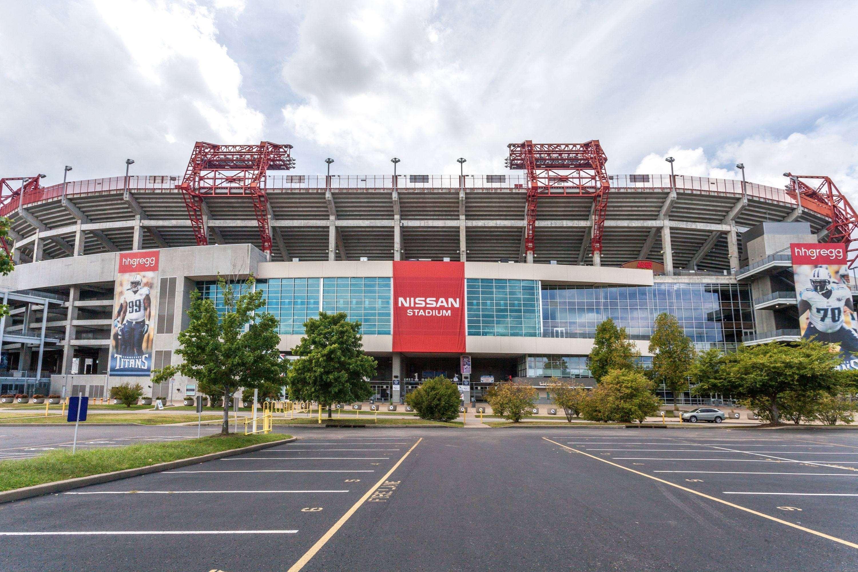
POLYGON ((184 174, 2 179, 2 392, 193 394, 148 371, 175 359, 190 292, 222 306, 218 276, 252 274, 285 355, 319 310, 359 320, 378 398, 445 375, 466 401, 508 379, 547 400, 551 376, 592 383, 607 317, 644 361, 662 311, 699 349, 797 339, 789 244, 848 249, 856 220, 829 178, 608 174, 599 141, 512 144, 495 174, 269 174, 291 150, 197 143, 184 174), (139 359, 114 363, 122 344, 139 359))

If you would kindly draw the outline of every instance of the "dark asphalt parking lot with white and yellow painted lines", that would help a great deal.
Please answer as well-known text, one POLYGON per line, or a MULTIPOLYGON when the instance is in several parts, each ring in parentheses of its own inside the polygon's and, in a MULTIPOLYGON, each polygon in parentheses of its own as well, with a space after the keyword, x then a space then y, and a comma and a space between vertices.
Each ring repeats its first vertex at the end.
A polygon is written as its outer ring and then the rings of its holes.
POLYGON ((0 569, 858 567, 854 431, 288 431, 0 505, 0 569))

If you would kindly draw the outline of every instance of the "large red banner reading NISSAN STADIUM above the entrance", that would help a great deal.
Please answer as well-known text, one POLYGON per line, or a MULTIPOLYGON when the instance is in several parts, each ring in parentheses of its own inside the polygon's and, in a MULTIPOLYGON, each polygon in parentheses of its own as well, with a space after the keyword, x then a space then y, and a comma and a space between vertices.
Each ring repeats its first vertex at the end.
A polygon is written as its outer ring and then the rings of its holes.
POLYGON ((393 351, 465 352, 464 262, 393 262, 393 351))

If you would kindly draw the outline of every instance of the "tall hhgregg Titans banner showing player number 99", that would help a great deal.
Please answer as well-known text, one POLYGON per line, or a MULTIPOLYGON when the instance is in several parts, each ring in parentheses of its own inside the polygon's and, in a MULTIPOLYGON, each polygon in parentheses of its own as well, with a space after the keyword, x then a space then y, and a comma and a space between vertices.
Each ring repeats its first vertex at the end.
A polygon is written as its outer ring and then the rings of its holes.
POLYGON ((148 376, 152 371, 158 261, 158 250, 119 253, 113 295, 111 376, 148 376))

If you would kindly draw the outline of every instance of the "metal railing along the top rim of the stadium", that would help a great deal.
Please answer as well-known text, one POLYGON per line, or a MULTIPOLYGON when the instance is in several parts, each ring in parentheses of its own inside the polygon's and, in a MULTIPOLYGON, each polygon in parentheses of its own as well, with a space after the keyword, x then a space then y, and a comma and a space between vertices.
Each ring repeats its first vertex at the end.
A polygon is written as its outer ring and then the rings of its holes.
MULTIPOLYGON (((706 195, 742 195, 742 182, 733 179, 688 177, 676 175, 671 184, 670 175, 609 175, 609 183, 616 190, 669 190, 675 188, 684 192, 706 195)), ((135 192, 176 192, 176 185, 182 180, 180 175, 138 175, 128 177, 128 189, 135 192)), ((106 191, 123 190, 126 178, 91 178, 82 181, 69 181, 66 184, 54 184, 42 187, 19 197, 0 208, 0 216, 6 216, 21 205, 29 205, 59 196, 91 195, 106 191)), ((266 179, 268 190, 309 190, 309 189, 510 189, 525 190, 527 177, 520 172, 503 175, 398 175, 396 184, 392 175, 270 175, 266 179), (328 181, 329 179, 329 181, 328 181)), ((795 205, 787 193, 776 187, 763 184, 746 183, 746 195, 770 201, 795 205)))

